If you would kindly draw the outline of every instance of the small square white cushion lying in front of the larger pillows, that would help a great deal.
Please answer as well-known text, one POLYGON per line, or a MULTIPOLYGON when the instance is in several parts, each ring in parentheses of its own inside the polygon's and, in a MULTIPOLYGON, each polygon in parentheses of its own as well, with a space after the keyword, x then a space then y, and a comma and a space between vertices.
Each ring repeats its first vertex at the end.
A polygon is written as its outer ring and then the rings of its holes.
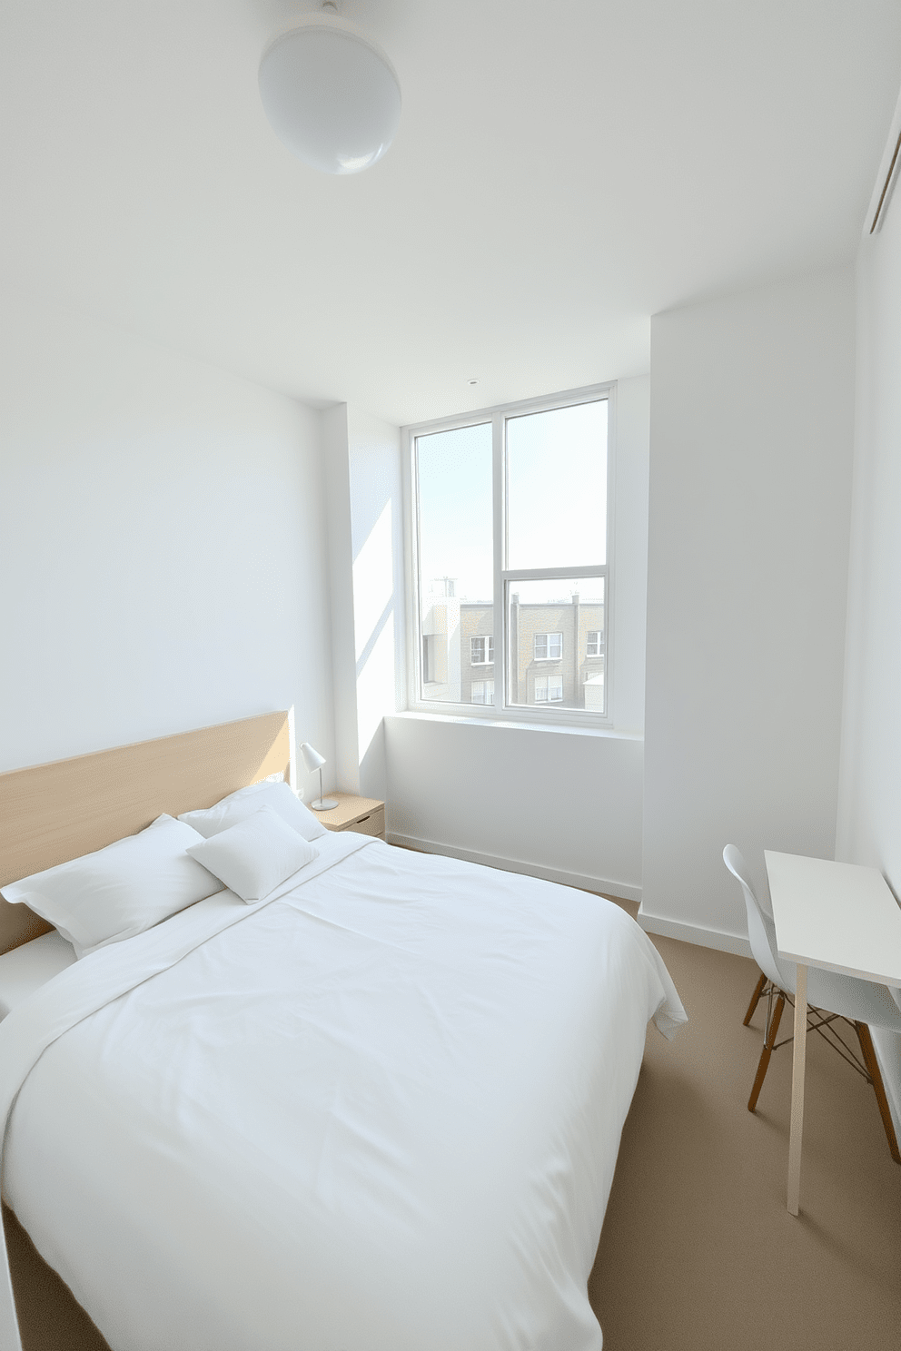
POLYGON ((272 807, 261 807, 227 831, 190 844, 192 858, 220 877, 242 901, 262 901, 292 873, 319 857, 272 807))

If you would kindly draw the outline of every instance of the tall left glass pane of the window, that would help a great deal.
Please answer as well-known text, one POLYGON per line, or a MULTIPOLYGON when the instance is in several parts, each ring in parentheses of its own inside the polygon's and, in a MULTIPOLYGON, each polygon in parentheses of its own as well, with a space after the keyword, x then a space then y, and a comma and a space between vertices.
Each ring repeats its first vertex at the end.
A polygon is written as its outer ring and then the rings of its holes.
POLYGON ((416 438, 420 698, 494 703, 492 424, 416 438))

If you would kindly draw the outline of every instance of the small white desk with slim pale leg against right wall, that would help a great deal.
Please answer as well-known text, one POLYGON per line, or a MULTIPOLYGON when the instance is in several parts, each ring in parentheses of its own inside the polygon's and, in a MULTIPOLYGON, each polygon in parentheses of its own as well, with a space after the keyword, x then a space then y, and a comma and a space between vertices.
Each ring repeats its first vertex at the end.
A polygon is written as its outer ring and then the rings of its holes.
POLYGON ((789 1213, 798 1213, 808 966, 901 989, 901 909, 875 867, 765 850, 779 957, 797 963, 789 1213))

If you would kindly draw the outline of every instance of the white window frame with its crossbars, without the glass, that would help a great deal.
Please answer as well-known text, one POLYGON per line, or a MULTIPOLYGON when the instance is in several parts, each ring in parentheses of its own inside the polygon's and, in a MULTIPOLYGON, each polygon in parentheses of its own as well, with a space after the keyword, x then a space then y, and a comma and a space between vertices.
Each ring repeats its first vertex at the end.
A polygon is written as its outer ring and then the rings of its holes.
MULTIPOLYGON (((615 503, 616 503, 616 382, 592 385, 585 389, 565 390, 559 394, 548 394, 543 399, 530 399, 521 403, 498 404, 493 408, 481 408, 471 413, 462 413, 457 417, 440 417, 434 422, 417 423, 401 428, 405 442, 404 454, 404 499, 405 499, 405 563, 407 563, 407 653, 408 653, 408 701, 407 707, 412 712, 451 715, 454 717, 474 719, 501 719, 508 723, 542 723, 546 727, 581 727, 581 728, 612 728, 613 721, 613 644, 615 644, 615 596, 613 596, 613 567, 615 567, 615 503), (517 417, 527 413, 551 412, 555 408, 567 408, 575 404, 596 403, 607 400, 608 404, 608 434, 607 434, 607 562, 594 566, 563 567, 535 567, 535 569, 504 569, 505 554, 505 516, 507 516, 507 462, 505 462, 505 427, 508 417, 517 417), (494 528, 494 636, 501 634, 503 655, 494 662, 494 703, 493 704, 465 704, 443 700, 423 700, 419 697, 421 689, 421 635, 420 615, 421 596, 419 578, 419 519, 417 519, 417 482, 416 482, 416 438, 427 436, 432 432, 454 431, 463 427, 478 427, 485 423, 492 424, 493 447, 493 528, 494 528), (511 582, 517 581, 566 581, 569 578, 604 578, 604 692, 605 708, 602 713, 589 712, 584 708, 562 708, 557 703, 547 704, 508 704, 507 684, 509 680, 508 654, 508 615, 507 600, 511 582)), ((475 635, 481 636, 481 635, 475 635)), ((561 658, 551 658, 559 661, 561 658)), ((471 665, 471 663, 470 663, 471 665)), ((488 663, 485 663, 488 665, 488 663)))

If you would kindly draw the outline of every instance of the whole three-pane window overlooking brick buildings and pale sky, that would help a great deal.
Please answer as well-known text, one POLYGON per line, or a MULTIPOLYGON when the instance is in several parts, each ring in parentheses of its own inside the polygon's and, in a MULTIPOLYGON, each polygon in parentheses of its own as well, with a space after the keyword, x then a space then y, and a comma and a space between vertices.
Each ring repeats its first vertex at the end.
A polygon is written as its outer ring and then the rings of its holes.
POLYGON ((613 393, 411 428, 413 707, 609 720, 613 393), (539 662, 557 669, 539 676, 539 662), (489 665, 493 680, 469 678, 489 665))

